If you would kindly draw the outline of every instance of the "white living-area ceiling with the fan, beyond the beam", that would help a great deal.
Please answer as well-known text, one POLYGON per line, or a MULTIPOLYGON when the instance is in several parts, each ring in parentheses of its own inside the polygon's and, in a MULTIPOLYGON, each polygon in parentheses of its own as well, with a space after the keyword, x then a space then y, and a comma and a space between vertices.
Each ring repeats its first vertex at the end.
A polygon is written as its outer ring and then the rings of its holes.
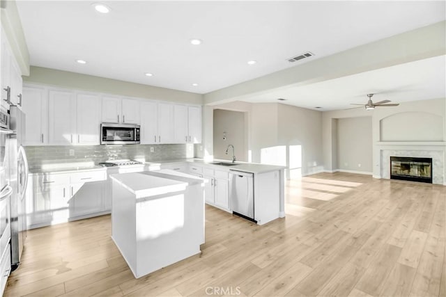
MULTIPOLYGON (((446 58, 437 56, 412 63, 380 68, 374 71, 312 83, 305 86, 270 90, 249 95, 245 102, 278 102, 307 109, 322 107, 320 111, 350 109, 354 104, 366 104, 367 94, 373 101, 391 100, 392 103, 446 97, 446 58)), ((316 109, 315 109, 316 110, 316 109)))

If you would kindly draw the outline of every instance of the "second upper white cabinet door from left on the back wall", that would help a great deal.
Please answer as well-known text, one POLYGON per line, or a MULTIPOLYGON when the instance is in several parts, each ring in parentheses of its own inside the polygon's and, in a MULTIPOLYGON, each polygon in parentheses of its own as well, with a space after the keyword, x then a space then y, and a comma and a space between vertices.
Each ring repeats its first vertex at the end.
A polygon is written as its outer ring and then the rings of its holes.
POLYGON ((76 101, 74 93, 49 90, 48 143, 71 145, 76 138, 76 101))

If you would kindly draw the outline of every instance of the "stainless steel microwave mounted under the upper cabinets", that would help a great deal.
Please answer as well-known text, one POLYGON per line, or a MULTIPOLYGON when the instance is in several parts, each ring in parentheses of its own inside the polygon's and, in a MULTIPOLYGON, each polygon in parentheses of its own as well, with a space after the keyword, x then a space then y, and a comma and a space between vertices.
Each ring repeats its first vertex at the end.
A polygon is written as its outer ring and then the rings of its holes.
POLYGON ((139 125, 103 122, 100 125, 101 145, 135 145, 139 143, 139 125))

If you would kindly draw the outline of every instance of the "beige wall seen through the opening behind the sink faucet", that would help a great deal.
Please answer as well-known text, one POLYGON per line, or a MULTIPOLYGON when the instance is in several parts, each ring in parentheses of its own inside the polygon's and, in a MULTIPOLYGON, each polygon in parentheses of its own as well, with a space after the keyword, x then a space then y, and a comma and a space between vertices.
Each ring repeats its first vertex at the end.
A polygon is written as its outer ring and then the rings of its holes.
POLYGON ((226 148, 228 145, 233 145, 237 161, 247 161, 245 113, 214 109, 213 126, 214 158, 230 160, 232 158, 232 150, 229 149, 228 154, 226 154, 226 148))

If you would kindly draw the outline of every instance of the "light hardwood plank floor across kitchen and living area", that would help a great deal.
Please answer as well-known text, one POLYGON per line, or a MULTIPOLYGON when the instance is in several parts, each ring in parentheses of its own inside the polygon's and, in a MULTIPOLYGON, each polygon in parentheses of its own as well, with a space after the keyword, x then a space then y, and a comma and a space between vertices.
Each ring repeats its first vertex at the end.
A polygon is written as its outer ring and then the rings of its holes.
MULTIPOLYGON (((257 226, 206 206, 206 243, 135 279, 110 216, 31 230, 6 296, 446 296, 446 187, 321 173, 257 226)), ((180 243, 178 243, 180 246, 180 243)))

